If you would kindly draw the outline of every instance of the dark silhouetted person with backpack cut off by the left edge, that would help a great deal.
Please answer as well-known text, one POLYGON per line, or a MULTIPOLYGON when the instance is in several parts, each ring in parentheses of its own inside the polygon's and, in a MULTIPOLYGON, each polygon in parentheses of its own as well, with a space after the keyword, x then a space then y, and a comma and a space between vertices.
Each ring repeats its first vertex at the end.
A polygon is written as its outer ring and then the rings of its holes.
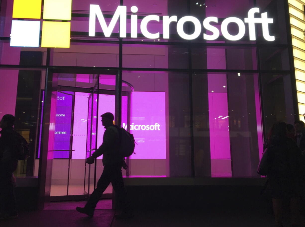
POLYGON ((13 172, 17 168, 15 117, 6 114, 0 121, 0 219, 17 218, 13 172))

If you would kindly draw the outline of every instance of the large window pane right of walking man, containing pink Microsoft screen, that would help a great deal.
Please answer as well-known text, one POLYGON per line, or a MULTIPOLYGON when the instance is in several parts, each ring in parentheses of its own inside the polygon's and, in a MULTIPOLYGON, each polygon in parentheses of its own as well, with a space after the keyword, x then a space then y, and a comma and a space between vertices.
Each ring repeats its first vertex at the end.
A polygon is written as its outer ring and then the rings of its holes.
POLYGON ((134 88, 129 127, 138 145, 130 175, 190 176, 188 75, 123 71, 123 80, 134 88))

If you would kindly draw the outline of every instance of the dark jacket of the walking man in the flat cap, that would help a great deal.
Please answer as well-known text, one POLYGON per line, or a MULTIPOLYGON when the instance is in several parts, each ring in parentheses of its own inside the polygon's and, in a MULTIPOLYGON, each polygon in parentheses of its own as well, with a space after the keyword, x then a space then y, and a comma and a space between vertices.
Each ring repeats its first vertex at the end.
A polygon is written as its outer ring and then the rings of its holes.
POLYGON ((103 165, 111 165, 124 161, 124 157, 119 154, 120 135, 116 126, 106 128, 103 136, 102 145, 92 154, 97 158, 103 155, 103 165))

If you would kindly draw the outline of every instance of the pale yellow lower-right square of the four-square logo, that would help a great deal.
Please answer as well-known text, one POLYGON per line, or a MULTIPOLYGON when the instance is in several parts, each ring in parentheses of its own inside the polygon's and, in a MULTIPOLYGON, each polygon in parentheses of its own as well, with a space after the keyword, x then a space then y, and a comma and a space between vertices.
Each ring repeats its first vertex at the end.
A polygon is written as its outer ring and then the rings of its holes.
POLYGON ((41 47, 70 48, 70 22, 42 22, 41 47))

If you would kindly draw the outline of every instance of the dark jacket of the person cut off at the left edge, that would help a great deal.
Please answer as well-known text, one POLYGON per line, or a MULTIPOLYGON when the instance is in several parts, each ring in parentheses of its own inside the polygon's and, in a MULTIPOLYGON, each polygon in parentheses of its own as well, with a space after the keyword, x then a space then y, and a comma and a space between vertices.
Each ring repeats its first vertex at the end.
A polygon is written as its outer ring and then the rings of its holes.
POLYGON ((17 143, 13 127, 0 131, 0 168, 15 171, 17 168, 17 143))

